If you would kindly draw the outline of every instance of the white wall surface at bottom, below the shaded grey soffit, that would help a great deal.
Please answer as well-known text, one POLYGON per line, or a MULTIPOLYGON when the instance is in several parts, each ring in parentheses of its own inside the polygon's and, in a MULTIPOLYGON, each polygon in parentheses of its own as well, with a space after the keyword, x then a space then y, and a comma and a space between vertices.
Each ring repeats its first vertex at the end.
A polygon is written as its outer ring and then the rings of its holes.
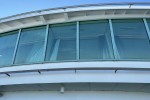
POLYGON ((0 100, 150 100, 150 93, 121 91, 6 92, 0 100))

